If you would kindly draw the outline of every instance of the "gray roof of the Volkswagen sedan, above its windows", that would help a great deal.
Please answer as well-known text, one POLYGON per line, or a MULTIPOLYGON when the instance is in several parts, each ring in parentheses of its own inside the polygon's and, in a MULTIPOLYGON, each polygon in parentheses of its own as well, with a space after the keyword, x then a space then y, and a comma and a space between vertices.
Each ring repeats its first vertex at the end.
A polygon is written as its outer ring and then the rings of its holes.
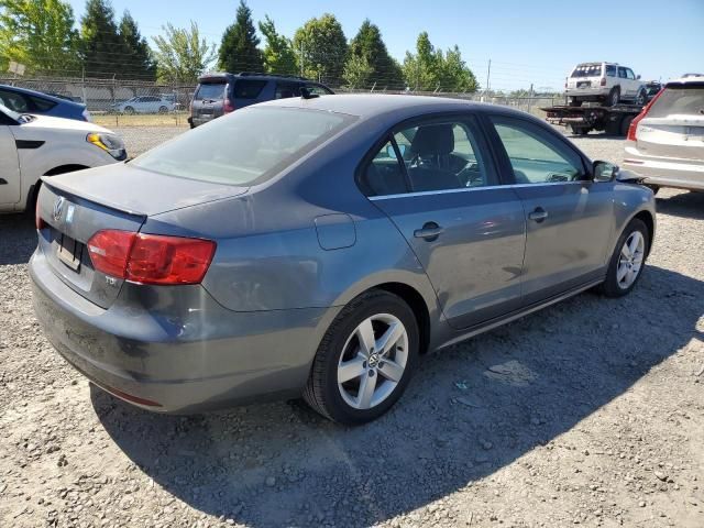
POLYGON ((483 102, 451 99, 447 97, 389 95, 389 94, 340 94, 321 96, 310 99, 292 97, 275 99, 258 103, 257 107, 284 107, 322 110, 336 113, 355 116, 370 119, 384 114, 393 116, 396 120, 409 119, 427 113, 442 113, 457 111, 486 111, 492 109, 498 113, 529 116, 508 107, 487 105, 483 102))

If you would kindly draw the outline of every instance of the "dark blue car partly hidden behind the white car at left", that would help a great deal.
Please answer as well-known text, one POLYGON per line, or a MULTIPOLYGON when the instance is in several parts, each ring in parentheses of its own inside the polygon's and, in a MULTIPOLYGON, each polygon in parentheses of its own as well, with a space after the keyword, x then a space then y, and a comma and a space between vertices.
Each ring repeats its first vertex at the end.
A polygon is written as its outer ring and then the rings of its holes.
POLYGON ((91 121, 85 105, 15 86, 0 85, 0 105, 18 113, 91 121))

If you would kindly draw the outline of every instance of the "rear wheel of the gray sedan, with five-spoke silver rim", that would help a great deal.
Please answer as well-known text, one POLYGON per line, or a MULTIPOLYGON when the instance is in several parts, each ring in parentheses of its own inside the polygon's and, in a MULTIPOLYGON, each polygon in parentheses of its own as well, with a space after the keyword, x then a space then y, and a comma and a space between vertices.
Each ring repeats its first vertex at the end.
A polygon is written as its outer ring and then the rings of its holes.
POLYGON ((419 359, 418 322, 398 296, 371 290, 356 297, 326 332, 304 399, 344 425, 372 421, 406 389, 419 359))

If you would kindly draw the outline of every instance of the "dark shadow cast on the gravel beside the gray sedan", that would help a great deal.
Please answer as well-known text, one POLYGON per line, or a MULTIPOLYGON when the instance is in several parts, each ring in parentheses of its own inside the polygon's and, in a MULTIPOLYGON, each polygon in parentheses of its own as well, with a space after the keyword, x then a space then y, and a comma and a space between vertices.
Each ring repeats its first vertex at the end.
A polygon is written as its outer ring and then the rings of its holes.
POLYGON ((124 453, 201 512, 255 527, 371 525, 472 485, 623 395, 704 338, 702 298, 703 282, 650 266, 628 297, 583 294, 429 355, 399 405, 354 429, 296 403, 169 417, 95 387, 91 399, 124 453))

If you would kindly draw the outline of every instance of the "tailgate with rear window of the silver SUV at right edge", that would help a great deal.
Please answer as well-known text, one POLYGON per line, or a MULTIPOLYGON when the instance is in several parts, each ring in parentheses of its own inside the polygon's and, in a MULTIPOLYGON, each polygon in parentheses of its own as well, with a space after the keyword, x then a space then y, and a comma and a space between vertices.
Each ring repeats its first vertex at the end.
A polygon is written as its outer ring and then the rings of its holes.
POLYGON ((704 81, 668 85, 638 123, 644 155, 704 162, 704 81))

